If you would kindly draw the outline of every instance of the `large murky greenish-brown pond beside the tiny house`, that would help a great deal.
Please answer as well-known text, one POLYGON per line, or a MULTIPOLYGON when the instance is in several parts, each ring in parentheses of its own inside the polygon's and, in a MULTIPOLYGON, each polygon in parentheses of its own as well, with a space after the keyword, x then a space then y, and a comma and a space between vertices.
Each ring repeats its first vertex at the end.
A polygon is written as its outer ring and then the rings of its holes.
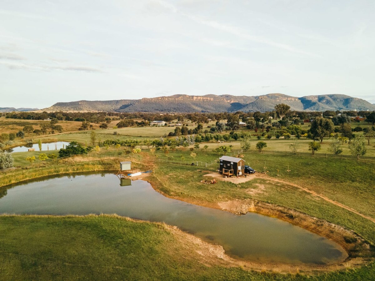
POLYGON ((237 216, 170 199, 156 192, 147 181, 120 182, 108 173, 52 176, 0 188, 0 213, 115 213, 163 221, 222 245, 231 256, 254 262, 323 265, 347 257, 335 242, 285 221, 255 213, 237 216))

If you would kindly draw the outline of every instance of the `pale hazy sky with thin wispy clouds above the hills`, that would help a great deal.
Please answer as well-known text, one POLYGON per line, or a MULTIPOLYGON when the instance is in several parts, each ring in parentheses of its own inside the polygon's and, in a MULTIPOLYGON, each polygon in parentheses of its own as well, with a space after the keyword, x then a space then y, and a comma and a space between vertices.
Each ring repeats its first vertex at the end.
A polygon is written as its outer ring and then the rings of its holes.
POLYGON ((0 107, 172 94, 375 103, 374 0, 1 0, 0 107))

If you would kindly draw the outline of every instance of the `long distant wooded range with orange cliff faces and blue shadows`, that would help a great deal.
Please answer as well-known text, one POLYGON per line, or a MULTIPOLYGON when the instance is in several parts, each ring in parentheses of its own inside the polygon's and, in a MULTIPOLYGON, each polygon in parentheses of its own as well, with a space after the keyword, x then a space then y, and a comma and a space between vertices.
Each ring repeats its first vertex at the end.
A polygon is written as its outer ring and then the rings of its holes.
POLYGON ((296 111, 375 110, 375 105, 363 99, 333 94, 292 97, 285 94, 262 96, 173 95, 139 100, 105 100, 58 102, 43 111, 108 111, 108 112, 236 112, 272 111, 285 103, 296 111))

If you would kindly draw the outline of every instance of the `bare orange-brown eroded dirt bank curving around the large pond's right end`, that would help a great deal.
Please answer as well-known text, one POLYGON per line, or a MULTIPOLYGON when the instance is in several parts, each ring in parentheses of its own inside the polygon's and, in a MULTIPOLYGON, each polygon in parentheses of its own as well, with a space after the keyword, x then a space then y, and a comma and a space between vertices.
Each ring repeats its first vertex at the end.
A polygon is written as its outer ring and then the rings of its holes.
MULTIPOLYGON (((209 175, 211 176, 211 175, 209 175)), ((348 253, 348 258, 340 263, 334 263, 331 265, 290 265, 290 264, 274 264, 274 263, 254 263, 247 262, 242 260, 237 260, 229 257, 225 254, 223 248, 219 245, 212 245, 207 242, 202 241, 199 238, 196 238, 193 235, 189 235, 184 232, 179 232, 175 227, 172 229, 175 230, 175 234, 179 235, 182 239, 189 239, 189 241, 197 242, 204 245, 205 251, 202 251, 202 254, 207 254, 207 257, 214 254, 220 259, 223 259, 222 262, 226 263, 228 266, 242 266, 243 268, 256 270, 256 271, 272 271, 272 272, 283 272, 283 273, 298 273, 298 272, 324 272, 324 271, 335 271, 340 269, 347 268, 356 268, 363 266, 375 258, 375 247, 371 245, 368 241, 363 239, 361 236, 357 235, 353 231, 346 229, 345 227, 329 223, 328 221, 321 220, 319 218, 311 217, 310 215, 303 214, 301 212, 295 211, 282 206, 276 206, 268 203, 264 203, 258 200, 249 199, 249 200, 229 200, 226 202, 204 202, 198 199, 192 198, 181 198, 178 196, 168 196, 168 194, 163 193, 159 187, 163 184, 154 176, 144 178, 144 180, 150 182, 152 187, 162 193, 164 196, 178 199, 184 202, 192 203, 195 205, 205 206, 209 208, 220 209, 223 211, 228 211, 233 214, 241 215, 246 214, 247 212, 257 212, 258 214, 267 215, 270 217, 279 218, 281 220, 292 223, 296 226, 302 227, 306 230, 309 230, 318 235, 324 236, 332 241, 335 241, 341 245, 348 253), (198 239, 198 240, 197 240, 198 239), (219 248, 217 248, 219 247, 219 248), (221 247, 221 248, 220 248, 221 247)), ((220 179, 219 179, 220 180, 220 179)), ((249 178, 251 180, 251 178, 249 178)))

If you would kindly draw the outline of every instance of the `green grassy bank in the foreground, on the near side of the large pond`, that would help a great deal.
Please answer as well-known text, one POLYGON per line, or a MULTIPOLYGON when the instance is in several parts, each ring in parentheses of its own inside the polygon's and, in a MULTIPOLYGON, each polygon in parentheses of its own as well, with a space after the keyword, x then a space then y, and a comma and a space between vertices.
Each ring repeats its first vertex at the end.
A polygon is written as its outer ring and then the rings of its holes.
MULTIPOLYGON (((0 216, 1 280, 366 280, 374 265, 288 275, 227 267, 160 223, 117 216, 0 216)), ((370 279, 369 279, 370 280, 370 279)))

